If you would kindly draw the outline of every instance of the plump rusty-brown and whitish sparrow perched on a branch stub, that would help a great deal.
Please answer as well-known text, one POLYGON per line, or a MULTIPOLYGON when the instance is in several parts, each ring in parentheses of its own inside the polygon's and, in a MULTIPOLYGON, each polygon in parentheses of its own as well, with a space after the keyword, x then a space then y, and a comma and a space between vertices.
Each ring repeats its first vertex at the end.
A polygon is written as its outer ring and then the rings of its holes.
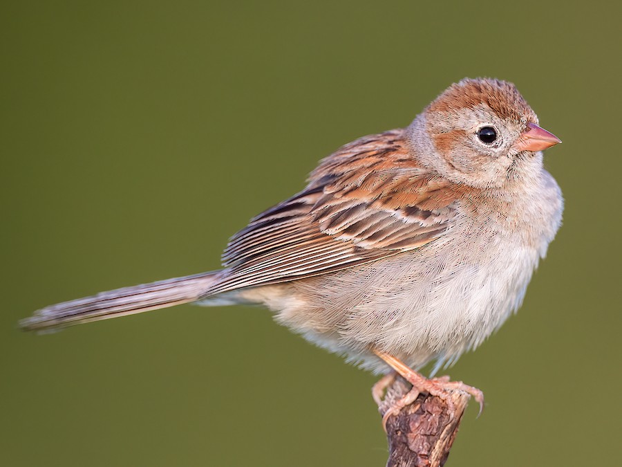
POLYGON ((405 128, 320 161, 305 188, 236 233, 223 268, 106 291, 36 311, 46 331, 168 306, 261 304, 276 322, 413 390, 480 390, 433 378, 521 305, 560 227, 563 196, 543 167, 561 143, 511 82, 465 78, 405 128), (433 363, 430 378, 420 370, 433 363))

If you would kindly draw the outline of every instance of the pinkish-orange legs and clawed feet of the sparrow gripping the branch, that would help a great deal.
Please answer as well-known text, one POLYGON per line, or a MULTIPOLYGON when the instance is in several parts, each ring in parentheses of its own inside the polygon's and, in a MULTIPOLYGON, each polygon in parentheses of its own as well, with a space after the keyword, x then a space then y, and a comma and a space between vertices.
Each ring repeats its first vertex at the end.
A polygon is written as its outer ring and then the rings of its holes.
MULTIPOLYGON (((382 417, 382 423, 386 430, 386 421, 388 418, 394 414, 398 414, 402 408, 406 407, 417 399, 422 392, 427 392, 433 396, 440 397, 443 399, 448 405, 450 405, 451 412, 451 399, 449 399, 449 392, 453 390, 463 391, 467 394, 471 394, 475 401, 478 401, 480 404, 480 414, 482 413, 482 409, 484 408, 484 394, 478 390, 476 387, 471 387, 462 383, 462 381, 449 381, 449 377, 442 376, 441 378, 428 379, 422 376, 421 374, 415 372, 414 369, 408 367, 408 365, 404 364, 402 360, 395 358, 389 354, 386 354, 382 351, 374 351, 374 353, 379 356, 382 360, 384 360, 387 365, 391 368, 395 369, 397 373, 399 373, 408 383, 413 385, 413 389, 411 392, 408 392, 406 396, 404 396, 401 400, 397 401, 393 407, 391 407, 382 417)), ((386 378, 386 377, 385 377, 386 378)), ((386 384, 385 378, 382 378, 376 385, 386 384)), ((374 390, 376 389, 376 385, 374 386, 374 390)), ((384 387, 382 388, 384 390, 384 387)), ((377 393, 375 392, 376 396, 377 393)), ((374 398, 376 399, 376 398, 374 398)))

